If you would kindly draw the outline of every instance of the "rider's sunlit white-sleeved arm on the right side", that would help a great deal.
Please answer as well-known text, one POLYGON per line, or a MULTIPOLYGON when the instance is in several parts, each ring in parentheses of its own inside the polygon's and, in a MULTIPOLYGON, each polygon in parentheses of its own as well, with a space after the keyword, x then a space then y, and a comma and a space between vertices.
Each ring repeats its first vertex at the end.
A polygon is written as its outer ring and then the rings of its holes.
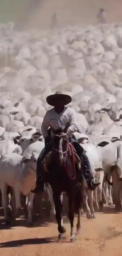
POLYGON ((67 135, 68 137, 71 137, 71 135, 74 132, 77 132, 77 116, 75 111, 70 108, 70 112, 69 112, 69 128, 67 130, 67 135))

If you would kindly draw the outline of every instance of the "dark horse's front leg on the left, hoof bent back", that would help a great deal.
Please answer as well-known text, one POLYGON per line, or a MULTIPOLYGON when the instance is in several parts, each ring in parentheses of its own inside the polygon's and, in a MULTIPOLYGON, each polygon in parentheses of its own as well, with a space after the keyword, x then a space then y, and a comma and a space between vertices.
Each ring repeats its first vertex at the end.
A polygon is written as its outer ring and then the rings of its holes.
POLYGON ((55 218, 58 223, 58 232, 59 232, 58 238, 61 239, 63 237, 62 234, 66 232, 66 229, 63 226, 63 205, 61 202, 60 193, 58 193, 57 191, 53 193, 53 199, 54 199, 55 212, 56 212, 55 218))

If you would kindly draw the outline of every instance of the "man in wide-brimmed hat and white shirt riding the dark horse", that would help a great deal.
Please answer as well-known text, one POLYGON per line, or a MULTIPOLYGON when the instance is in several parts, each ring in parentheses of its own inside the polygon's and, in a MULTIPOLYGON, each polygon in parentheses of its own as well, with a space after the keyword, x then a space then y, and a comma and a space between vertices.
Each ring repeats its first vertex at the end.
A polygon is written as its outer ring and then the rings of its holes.
MULTIPOLYGON (((94 177, 91 173, 91 166, 89 163, 89 160, 87 158, 87 155, 85 154, 84 149, 82 146, 72 138, 72 135, 74 132, 77 132, 77 116, 75 111, 70 108, 66 107, 65 105, 69 104, 71 102, 71 97, 69 95, 62 94, 61 92, 56 92, 53 95, 50 95, 47 97, 46 101, 49 105, 54 106, 52 109, 48 110, 45 114, 45 117, 42 122, 41 126, 41 132, 45 139, 45 148, 42 150, 40 156, 38 157, 37 161, 37 179, 36 179, 36 188, 34 190, 31 190, 33 193, 42 192, 40 191, 39 186, 39 176, 40 176, 40 169, 41 169, 41 162, 47 155, 47 153, 51 150, 51 138, 53 138, 54 133, 52 130, 49 130, 48 128, 51 127, 53 130, 58 130, 59 128, 62 128, 64 133, 64 136, 68 136, 71 140, 71 142, 74 145, 74 148, 77 152, 77 155, 79 158, 83 159, 83 173, 84 177, 87 181, 87 185, 89 189, 94 190, 100 183, 94 183, 94 177)), ((62 135, 62 134, 61 134, 62 135)))

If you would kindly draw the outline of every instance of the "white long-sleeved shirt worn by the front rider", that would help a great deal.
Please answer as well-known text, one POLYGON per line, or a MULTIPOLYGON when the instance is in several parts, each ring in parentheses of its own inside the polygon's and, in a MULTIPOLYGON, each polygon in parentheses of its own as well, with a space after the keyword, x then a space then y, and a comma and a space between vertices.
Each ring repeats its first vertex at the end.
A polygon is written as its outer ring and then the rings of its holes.
MULTIPOLYGON (((68 137, 71 137, 74 132, 77 132, 77 116, 72 108, 64 107, 63 112, 60 114, 55 112, 54 108, 48 110, 41 125, 43 137, 45 138, 48 136, 49 127, 53 128, 54 130, 57 130, 58 128, 64 129, 66 124, 69 124, 67 135, 68 137)), ((54 134, 51 131, 51 137, 53 137, 53 135, 54 134)))

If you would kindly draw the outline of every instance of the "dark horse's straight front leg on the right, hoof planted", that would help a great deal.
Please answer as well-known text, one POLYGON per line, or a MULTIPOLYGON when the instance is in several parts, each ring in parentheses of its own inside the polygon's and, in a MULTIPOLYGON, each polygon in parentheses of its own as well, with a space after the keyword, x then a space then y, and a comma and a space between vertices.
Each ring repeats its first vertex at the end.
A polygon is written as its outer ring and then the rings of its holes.
POLYGON ((68 212, 68 218, 70 220, 71 225, 71 243, 76 241, 75 233, 74 233, 74 195, 69 196, 69 212, 68 212))

